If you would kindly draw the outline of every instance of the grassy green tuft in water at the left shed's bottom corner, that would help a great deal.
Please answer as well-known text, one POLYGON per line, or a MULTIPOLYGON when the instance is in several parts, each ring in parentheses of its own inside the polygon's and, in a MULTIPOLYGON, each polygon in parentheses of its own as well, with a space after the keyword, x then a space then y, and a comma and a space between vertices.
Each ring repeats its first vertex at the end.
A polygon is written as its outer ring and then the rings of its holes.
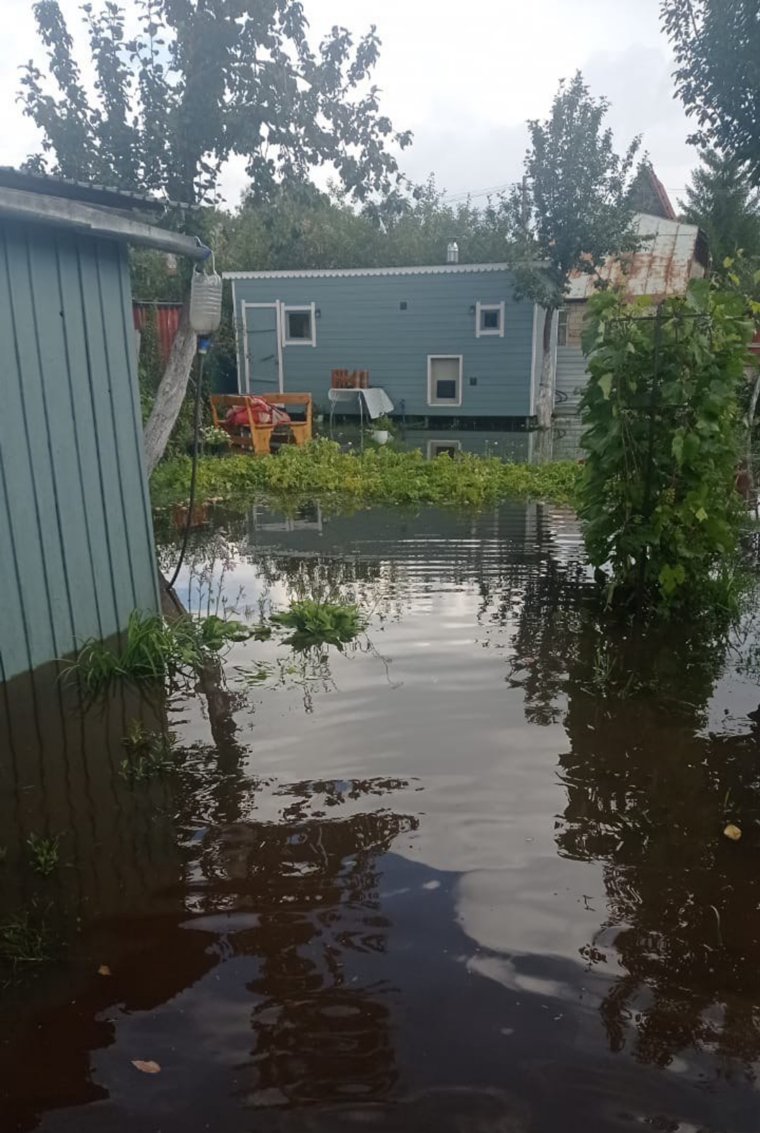
POLYGON ((245 640, 250 631, 240 622, 214 615, 168 622, 157 614, 135 611, 129 616, 121 651, 103 641, 85 641, 66 670, 86 692, 95 693, 116 680, 138 684, 165 683, 199 672, 230 641, 245 640))

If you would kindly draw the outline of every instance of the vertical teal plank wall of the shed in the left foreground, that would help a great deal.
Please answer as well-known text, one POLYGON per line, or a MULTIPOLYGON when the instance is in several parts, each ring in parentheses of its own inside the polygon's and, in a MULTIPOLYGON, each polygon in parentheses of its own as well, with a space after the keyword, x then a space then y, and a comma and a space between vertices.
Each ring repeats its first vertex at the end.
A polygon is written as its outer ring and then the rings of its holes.
POLYGON ((159 603, 126 250, 0 223, 0 680, 159 603))

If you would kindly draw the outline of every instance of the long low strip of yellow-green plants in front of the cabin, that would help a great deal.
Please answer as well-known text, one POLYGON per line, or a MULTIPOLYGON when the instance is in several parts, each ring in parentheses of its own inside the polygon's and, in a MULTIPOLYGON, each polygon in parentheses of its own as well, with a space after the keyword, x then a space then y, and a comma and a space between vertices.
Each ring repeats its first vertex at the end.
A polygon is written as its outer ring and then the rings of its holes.
MULTIPOLYGON (((255 495, 284 499, 335 496, 358 503, 480 506, 516 497, 572 501, 580 468, 506 463, 495 457, 462 453, 426 460, 421 452, 373 448, 342 452, 331 441, 288 445, 276 455, 205 457, 198 462, 197 500, 245 500, 255 495)), ((151 480, 156 506, 183 503, 190 485, 190 461, 168 460, 151 480)))

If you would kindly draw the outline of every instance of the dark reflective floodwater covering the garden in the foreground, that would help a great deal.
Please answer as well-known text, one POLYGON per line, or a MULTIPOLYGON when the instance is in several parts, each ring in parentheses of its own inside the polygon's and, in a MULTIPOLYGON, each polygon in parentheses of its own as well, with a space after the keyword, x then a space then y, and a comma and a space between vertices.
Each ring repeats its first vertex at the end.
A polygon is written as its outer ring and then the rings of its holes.
POLYGON ((195 611, 339 593, 367 632, 165 705, 3 690, 2 911, 52 955, 0 998, 2 1133, 755 1133, 753 616, 601 624, 537 505, 210 512, 190 560, 195 611), (135 719, 176 773, 120 775, 135 719))

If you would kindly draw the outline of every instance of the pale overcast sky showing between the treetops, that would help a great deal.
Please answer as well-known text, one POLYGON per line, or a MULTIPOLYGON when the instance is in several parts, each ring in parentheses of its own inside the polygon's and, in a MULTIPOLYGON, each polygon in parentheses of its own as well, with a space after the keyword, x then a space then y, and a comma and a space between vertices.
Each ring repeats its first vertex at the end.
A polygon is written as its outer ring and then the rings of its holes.
MULTIPOLYGON (((376 80, 383 108, 415 143, 402 155, 413 180, 435 173, 451 196, 521 176, 526 119, 548 112, 561 77, 580 68, 595 94, 613 107, 622 148, 643 134, 661 181, 683 193, 694 151, 689 122, 673 97, 672 60, 659 29, 659 0, 302 0, 315 36, 342 24, 357 34, 375 23, 383 41, 376 80)), ((77 27, 80 0, 61 0, 77 27)), ((128 3, 129 6, 129 3, 128 3)), ((2 0, 0 164, 16 164, 39 145, 15 102, 18 67, 44 61, 34 34, 32 0, 2 0)), ((237 201, 245 177, 227 174, 237 201)))

